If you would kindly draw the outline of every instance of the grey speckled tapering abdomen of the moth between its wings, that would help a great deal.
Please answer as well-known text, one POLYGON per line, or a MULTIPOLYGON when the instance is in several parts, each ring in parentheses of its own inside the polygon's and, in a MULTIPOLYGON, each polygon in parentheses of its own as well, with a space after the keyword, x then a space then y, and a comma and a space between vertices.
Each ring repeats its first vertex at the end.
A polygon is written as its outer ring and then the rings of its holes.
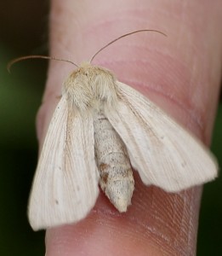
POLYGON ((101 189, 119 212, 126 212, 134 192, 133 171, 121 137, 101 111, 94 116, 94 151, 101 189))

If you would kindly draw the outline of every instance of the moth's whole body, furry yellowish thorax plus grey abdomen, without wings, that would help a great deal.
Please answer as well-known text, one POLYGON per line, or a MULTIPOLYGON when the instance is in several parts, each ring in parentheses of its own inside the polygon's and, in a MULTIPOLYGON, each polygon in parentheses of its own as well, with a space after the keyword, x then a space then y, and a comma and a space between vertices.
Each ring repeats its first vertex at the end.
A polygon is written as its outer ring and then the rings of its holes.
POLYGON ((126 212, 134 192, 133 171, 126 146, 103 111, 105 104, 117 104, 115 77, 105 68, 83 63, 65 81, 63 94, 82 114, 92 111, 100 187, 119 212, 126 212))

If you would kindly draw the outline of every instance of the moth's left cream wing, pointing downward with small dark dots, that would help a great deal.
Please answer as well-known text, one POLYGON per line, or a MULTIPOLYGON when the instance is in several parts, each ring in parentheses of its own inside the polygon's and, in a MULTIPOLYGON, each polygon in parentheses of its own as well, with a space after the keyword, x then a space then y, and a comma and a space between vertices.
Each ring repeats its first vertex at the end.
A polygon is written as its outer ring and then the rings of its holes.
POLYGON ((33 230, 84 218, 98 197, 94 126, 62 96, 43 144, 28 215, 33 230))

